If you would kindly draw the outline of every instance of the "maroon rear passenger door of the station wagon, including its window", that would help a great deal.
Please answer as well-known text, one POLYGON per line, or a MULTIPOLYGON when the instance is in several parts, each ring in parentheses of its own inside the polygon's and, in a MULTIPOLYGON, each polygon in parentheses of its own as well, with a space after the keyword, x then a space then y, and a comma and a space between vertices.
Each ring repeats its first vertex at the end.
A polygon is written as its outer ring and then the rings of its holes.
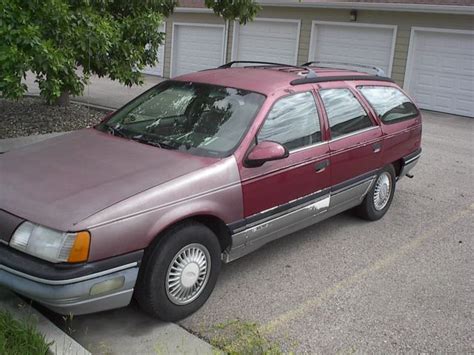
POLYGON ((318 90, 329 127, 331 208, 358 204, 382 165, 382 131, 346 86, 318 90))

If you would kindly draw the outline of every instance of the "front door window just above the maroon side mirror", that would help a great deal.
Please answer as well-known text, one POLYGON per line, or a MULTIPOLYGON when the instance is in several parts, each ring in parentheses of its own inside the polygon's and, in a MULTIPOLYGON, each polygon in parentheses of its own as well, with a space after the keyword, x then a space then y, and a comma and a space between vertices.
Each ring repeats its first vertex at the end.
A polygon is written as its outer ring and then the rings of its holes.
POLYGON ((278 142, 288 150, 320 142, 321 128, 313 94, 303 92, 277 101, 257 139, 278 142))

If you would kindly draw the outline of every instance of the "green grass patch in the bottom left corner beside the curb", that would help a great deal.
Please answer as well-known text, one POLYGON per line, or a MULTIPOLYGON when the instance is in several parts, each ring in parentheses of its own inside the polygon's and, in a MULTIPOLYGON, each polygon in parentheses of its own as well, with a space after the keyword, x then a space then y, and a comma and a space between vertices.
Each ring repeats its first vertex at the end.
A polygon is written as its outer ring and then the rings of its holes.
POLYGON ((44 355, 48 351, 49 344, 31 321, 17 321, 0 310, 0 354, 44 355))

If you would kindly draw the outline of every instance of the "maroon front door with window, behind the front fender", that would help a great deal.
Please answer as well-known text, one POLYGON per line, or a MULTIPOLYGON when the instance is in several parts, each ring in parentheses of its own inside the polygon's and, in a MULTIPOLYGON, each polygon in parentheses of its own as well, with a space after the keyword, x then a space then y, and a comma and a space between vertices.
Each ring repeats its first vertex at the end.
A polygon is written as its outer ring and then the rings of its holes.
POLYGON ((280 225, 289 227, 325 211, 329 204, 329 145, 322 140, 313 92, 278 99, 256 138, 257 144, 265 140, 281 143, 290 155, 260 167, 242 168, 246 224, 279 218, 280 225))

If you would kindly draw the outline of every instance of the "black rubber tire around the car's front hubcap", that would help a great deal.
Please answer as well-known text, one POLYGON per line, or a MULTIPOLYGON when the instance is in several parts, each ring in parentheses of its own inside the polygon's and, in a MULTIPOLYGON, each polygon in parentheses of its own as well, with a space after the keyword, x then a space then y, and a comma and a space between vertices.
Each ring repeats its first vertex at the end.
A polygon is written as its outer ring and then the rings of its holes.
MULTIPOLYGON (((221 268, 221 249, 216 235, 200 223, 187 222, 169 229, 150 249, 145 254, 135 288, 135 298, 140 307, 148 314, 170 322, 186 318, 196 312, 212 293, 221 268), (198 246, 198 252, 201 250, 202 255, 205 255, 205 250, 209 254, 206 256, 206 262, 208 257, 210 258, 210 265, 207 263, 210 267, 206 273, 208 275, 207 281, 203 281, 204 284, 195 299, 188 300, 189 303, 186 304, 176 304, 177 298, 174 298, 175 302, 172 301, 173 295, 170 294, 171 291, 167 287, 170 264, 175 261, 175 257, 183 249, 186 248, 189 251, 189 248, 196 246, 198 246)), ((199 269, 197 274, 200 275, 201 271, 199 269)), ((183 274, 185 273, 181 273, 181 275, 183 274)), ((178 287, 183 286, 182 277, 179 278, 181 286, 178 287)))

